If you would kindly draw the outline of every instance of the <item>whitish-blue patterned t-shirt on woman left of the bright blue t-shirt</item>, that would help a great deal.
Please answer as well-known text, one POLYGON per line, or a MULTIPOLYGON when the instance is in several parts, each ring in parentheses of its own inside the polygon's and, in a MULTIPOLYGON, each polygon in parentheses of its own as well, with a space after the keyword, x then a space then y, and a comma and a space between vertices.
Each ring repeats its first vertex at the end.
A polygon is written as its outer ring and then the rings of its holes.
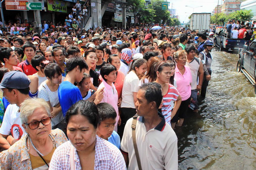
MULTIPOLYGON (((43 98, 46 102, 50 101, 51 106, 54 107, 59 103, 58 89, 52 92, 44 81, 38 88, 38 98, 43 98)), ((56 117, 52 118, 52 126, 57 125, 63 119, 62 111, 60 111, 56 117)))

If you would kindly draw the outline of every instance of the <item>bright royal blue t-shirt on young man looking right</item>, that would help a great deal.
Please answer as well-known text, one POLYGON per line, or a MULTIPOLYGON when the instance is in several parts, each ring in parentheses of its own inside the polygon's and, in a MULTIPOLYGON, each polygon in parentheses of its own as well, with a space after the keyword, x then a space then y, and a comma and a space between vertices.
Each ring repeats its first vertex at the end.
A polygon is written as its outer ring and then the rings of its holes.
POLYGON ((64 81, 60 84, 58 88, 58 97, 63 116, 66 115, 73 104, 79 100, 83 100, 79 88, 68 81, 64 81))

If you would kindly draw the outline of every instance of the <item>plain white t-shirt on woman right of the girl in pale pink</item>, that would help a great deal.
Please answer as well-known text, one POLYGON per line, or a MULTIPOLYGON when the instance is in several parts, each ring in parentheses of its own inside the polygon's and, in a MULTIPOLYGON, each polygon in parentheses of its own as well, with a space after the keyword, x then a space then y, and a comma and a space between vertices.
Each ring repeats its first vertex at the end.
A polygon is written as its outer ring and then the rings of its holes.
POLYGON ((139 78, 134 71, 129 72, 123 82, 121 107, 135 109, 133 92, 139 91, 139 78))

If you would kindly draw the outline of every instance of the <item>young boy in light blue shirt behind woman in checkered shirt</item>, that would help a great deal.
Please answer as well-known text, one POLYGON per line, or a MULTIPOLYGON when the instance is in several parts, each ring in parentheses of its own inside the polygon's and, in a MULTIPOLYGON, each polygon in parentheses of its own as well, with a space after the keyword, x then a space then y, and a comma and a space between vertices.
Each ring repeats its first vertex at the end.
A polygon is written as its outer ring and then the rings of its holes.
POLYGON ((117 117, 114 107, 103 102, 97 104, 97 108, 100 116, 97 135, 120 149, 120 137, 117 132, 114 131, 117 117))

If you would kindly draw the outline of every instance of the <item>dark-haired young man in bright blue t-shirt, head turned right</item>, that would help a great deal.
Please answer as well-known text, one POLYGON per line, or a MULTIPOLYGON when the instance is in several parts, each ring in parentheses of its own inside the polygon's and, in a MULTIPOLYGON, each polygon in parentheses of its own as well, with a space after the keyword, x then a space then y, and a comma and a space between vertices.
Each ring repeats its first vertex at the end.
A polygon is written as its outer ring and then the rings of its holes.
POLYGON ((83 100, 81 92, 75 82, 81 82, 83 73, 88 66, 83 57, 71 57, 66 65, 66 77, 58 88, 58 97, 63 116, 66 115, 69 108, 79 100, 83 100))

